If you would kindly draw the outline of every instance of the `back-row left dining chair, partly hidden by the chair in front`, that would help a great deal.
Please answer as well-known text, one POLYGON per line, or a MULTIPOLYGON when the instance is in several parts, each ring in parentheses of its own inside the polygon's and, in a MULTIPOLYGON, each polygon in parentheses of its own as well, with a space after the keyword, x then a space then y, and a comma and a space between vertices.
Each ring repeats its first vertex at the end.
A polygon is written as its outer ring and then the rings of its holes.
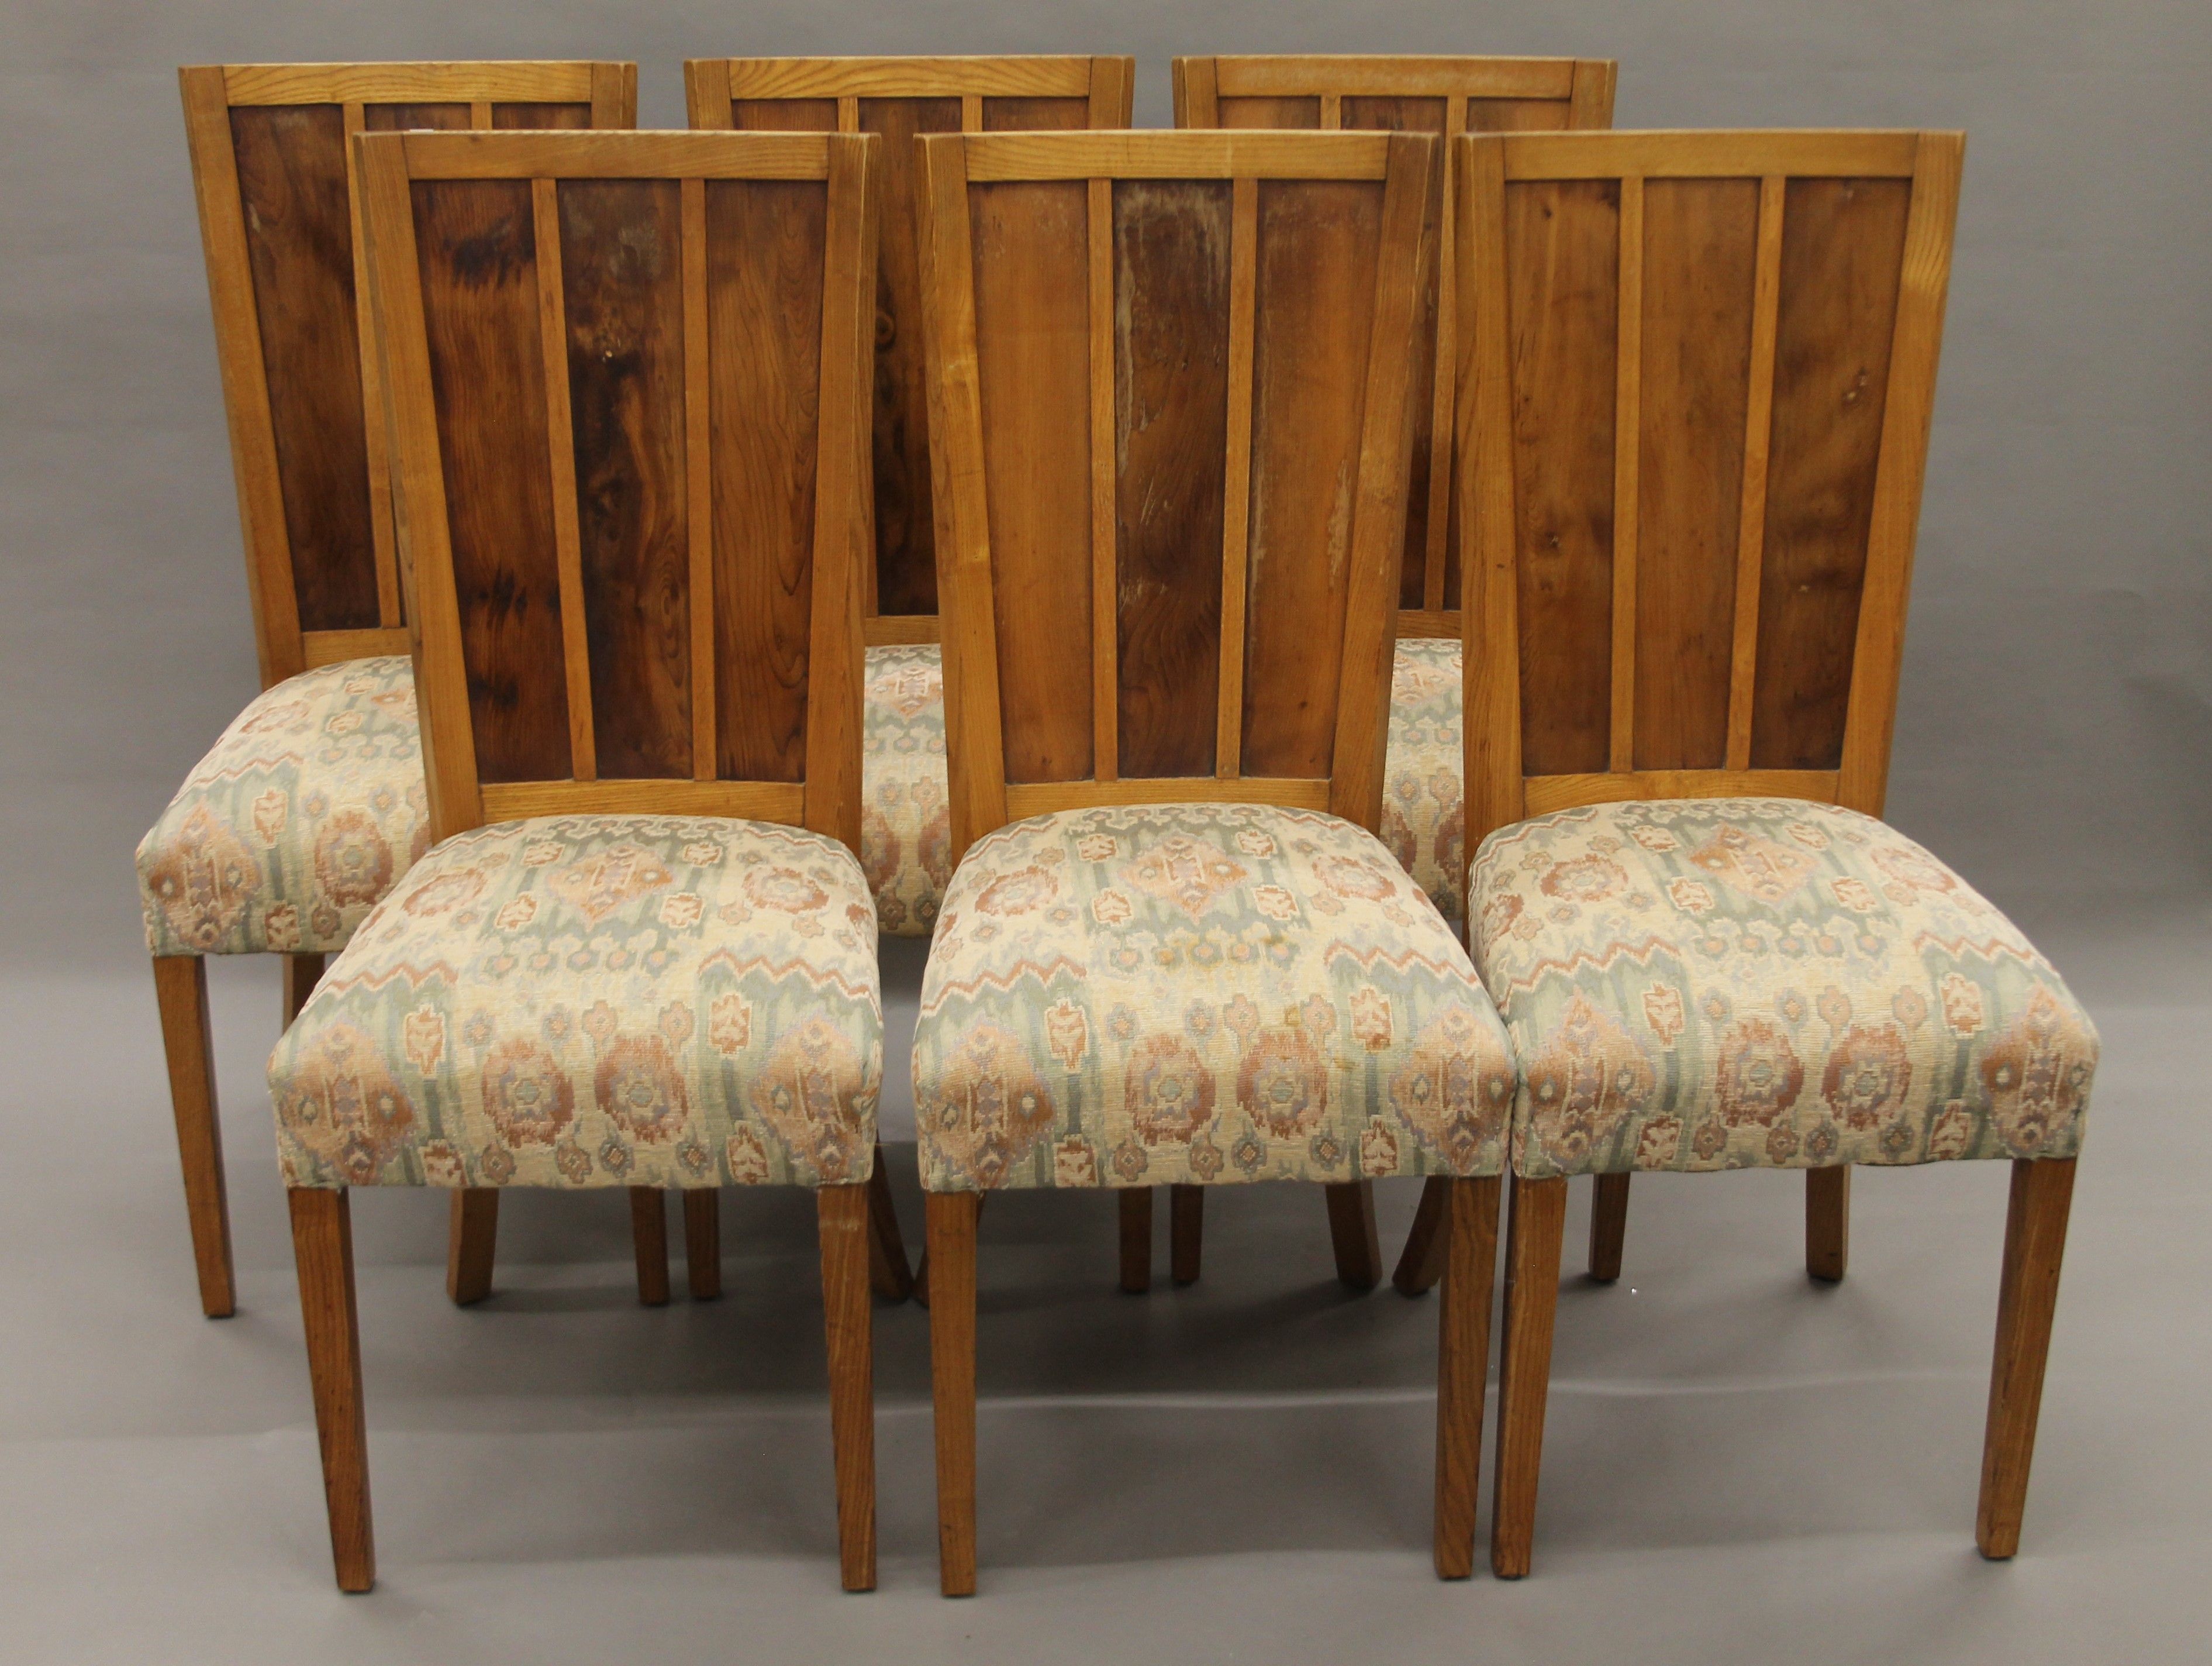
POLYGON ((199 1301, 237 1308, 210 954, 281 954, 285 1022, 427 845, 385 405, 347 137, 626 128, 635 64, 179 71, 261 695, 137 850, 199 1301))

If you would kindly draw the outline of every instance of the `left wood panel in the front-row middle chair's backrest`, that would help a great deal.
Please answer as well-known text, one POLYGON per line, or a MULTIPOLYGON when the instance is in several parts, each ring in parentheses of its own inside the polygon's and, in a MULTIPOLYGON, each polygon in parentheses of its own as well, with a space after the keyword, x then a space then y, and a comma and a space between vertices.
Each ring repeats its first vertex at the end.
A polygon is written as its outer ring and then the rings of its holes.
POLYGON ((978 186, 978 387, 1006 781, 1093 768, 1088 186, 978 186), (1020 485, 1013 485, 1020 480, 1020 485))

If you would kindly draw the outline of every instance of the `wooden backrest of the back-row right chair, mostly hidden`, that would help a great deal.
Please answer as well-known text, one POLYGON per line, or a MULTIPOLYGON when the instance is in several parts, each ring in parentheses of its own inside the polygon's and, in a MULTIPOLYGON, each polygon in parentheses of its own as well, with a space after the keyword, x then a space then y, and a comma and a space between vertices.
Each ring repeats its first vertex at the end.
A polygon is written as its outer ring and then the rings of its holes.
MULTIPOLYGON (((1179 128, 1383 128, 1522 133, 1613 126, 1613 62, 1604 58, 1177 58, 1179 128)), ((1413 485, 1398 571, 1398 635, 1460 635, 1460 553, 1451 535, 1453 192, 1444 190, 1436 279, 1416 385, 1413 485), (1440 376, 1438 365, 1447 372, 1440 376)))

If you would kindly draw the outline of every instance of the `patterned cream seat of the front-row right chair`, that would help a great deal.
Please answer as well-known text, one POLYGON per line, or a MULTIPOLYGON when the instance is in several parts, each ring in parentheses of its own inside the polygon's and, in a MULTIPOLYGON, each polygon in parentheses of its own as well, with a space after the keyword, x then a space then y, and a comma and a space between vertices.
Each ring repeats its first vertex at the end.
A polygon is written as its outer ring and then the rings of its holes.
POLYGON ((1469 898, 1522 1060, 1524 1175, 2081 1144, 2088 1016, 1880 821, 1796 799, 1562 810, 1484 839, 1469 898))

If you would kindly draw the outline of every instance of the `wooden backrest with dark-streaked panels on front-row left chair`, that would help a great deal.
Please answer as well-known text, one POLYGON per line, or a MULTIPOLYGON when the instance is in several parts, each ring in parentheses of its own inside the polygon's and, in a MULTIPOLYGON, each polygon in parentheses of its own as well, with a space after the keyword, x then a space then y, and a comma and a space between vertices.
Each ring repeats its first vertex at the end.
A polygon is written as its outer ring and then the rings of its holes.
POLYGON ((358 142, 434 836, 860 843, 872 137, 358 142))

